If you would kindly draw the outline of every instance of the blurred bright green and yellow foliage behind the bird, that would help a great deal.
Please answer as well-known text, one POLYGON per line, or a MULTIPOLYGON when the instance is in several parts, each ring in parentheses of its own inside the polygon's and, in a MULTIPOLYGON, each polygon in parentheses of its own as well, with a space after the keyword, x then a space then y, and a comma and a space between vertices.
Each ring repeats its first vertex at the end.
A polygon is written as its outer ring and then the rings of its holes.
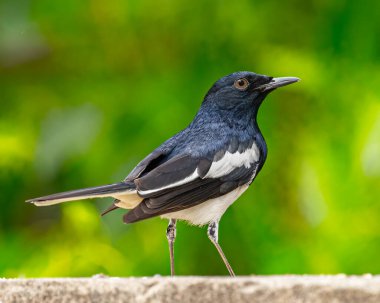
MULTIPOLYGON (((269 155, 224 215, 238 274, 380 273, 380 2, 0 1, 0 275, 169 273, 159 218, 27 198, 122 180, 237 70, 298 76, 259 113, 269 155)), ((227 274, 180 223, 182 275, 227 274)))

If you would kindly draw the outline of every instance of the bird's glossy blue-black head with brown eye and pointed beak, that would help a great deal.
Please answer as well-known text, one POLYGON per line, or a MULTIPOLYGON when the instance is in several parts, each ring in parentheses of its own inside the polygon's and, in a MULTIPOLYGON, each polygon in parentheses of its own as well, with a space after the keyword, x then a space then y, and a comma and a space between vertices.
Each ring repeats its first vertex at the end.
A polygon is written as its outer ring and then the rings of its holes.
POLYGON ((299 81, 295 77, 273 78, 252 72, 236 72, 219 79, 204 103, 220 109, 258 110, 265 97, 278 87, 299 81))

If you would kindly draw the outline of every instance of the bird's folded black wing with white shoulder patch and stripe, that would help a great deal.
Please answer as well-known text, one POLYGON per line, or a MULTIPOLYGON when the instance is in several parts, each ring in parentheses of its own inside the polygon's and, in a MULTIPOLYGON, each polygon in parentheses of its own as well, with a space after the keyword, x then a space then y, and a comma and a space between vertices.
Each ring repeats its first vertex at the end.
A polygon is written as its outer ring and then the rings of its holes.
POLYGON ((250 183, 258 167, 257 148, 211 159, 178 155, 135 180, 144 200, 124 216, 131 223, 175 212, 250 183))

